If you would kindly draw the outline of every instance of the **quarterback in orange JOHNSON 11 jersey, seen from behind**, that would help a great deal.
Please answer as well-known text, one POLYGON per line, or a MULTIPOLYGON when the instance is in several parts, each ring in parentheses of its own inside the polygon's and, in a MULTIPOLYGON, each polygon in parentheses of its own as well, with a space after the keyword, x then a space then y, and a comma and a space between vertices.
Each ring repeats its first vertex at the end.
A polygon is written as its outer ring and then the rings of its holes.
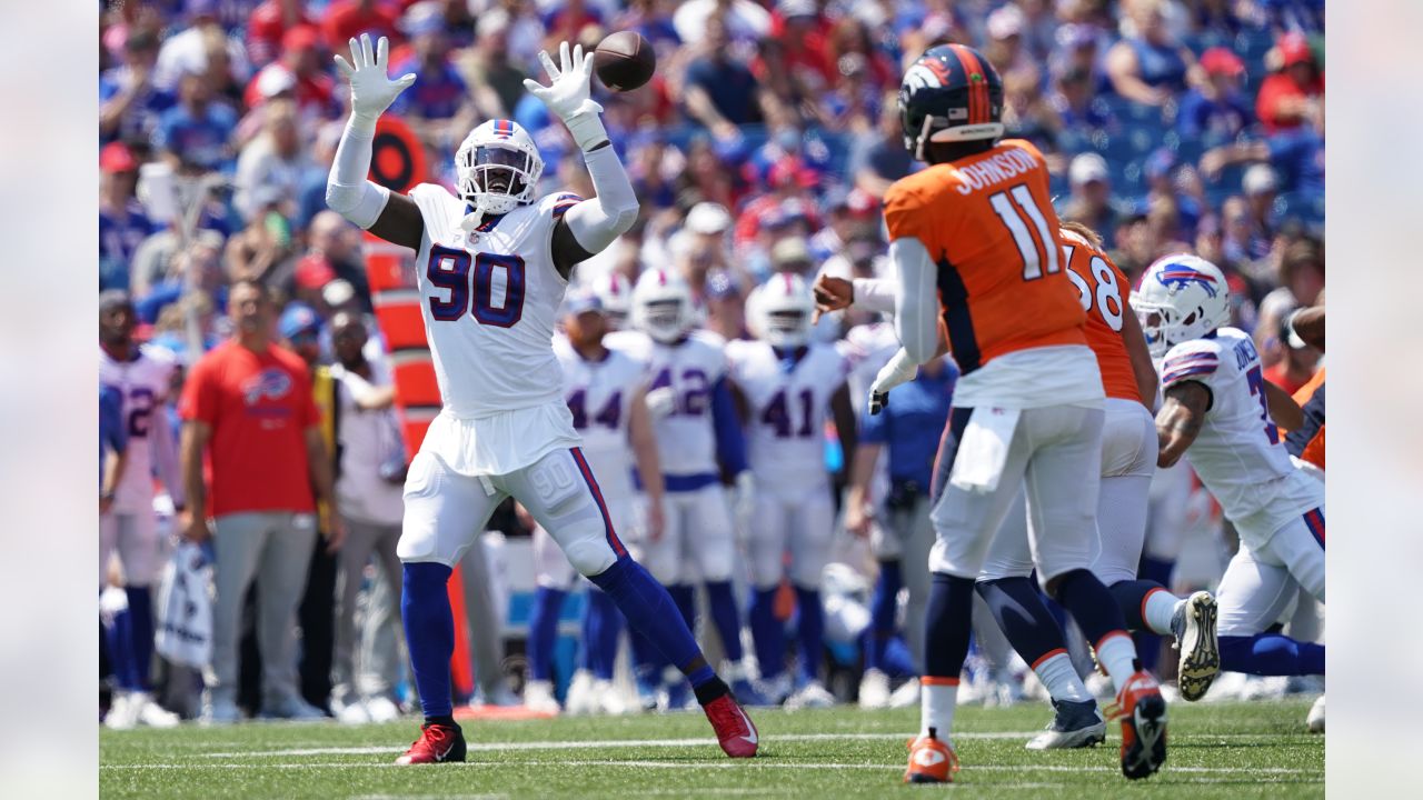
POLYGON ((1042 154, 999 141, 1002 93, 992 64, 958 44, 921 56, 899 90, 905 145, 929 168, 885 196, 905 349, 874 391, 914 377, 941 336, 963 372, 935 475, 921 730, 905 780, 946 781, 958 767, 948 736, 975 581, 1025 478, 1039 581, 1096 643, 1117 689, 1123 773, 1147 777, 1165 760, 1165 702, 1090 569, 1101 376, 1063 269, 1042 154))

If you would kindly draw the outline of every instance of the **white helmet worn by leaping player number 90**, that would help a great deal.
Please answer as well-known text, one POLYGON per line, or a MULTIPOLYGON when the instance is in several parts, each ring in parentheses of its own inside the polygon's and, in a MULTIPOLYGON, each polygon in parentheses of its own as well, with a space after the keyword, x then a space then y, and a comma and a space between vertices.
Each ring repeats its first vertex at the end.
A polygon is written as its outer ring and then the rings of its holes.
POLYGON ((508 214, 532 202, 544 159, 528 131, 512 120, 490 120, 464 138, 454 154, 460 199, 475 214, 508 214))

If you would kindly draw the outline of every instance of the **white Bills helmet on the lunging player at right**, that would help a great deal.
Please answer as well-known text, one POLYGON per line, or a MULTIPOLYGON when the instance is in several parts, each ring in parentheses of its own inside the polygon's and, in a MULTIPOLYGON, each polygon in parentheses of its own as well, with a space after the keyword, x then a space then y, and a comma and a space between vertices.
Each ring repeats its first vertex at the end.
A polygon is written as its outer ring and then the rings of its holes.
POLYGON ((1214 263, 1187 253, 1161 256, 1148 266, 1131 293, 1131 306, 1155 359, 1231 320, 1225 275, 1214 263))

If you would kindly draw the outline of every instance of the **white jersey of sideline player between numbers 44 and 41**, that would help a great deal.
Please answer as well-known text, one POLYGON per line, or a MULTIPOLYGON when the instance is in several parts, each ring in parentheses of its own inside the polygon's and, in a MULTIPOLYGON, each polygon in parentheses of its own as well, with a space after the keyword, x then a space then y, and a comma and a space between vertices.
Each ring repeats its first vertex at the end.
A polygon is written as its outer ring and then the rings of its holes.
POLYGON ((720 473, 712 387, 726 377, 726 340, 709 330, 693 330, 677 344, 663 344, 640 332, 619 332, 613 344, 646 366, 649 391, 670 386, 676 393, 673 411, 655 426, 662 473, 720 473))

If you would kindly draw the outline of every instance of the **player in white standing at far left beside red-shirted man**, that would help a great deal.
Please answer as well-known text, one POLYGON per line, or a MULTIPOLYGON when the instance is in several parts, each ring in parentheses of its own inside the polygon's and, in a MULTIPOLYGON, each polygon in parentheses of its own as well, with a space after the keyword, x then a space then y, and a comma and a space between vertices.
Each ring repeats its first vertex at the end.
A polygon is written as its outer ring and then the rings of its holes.
POLYGON ((164 562, 154 512, 154 474, 182 508, 182 480, 176 448, 168 427, 165 404, 172 384, 174 357, 158 347, 134 342, 138 315, 127 292, 108 290, 98 299, 98 381, 122 397, 121 420, 128 433, 124 477, 107 498, 110 508, 100 515, 98 584, 108 579, 115 551, 124 575, 128 611, 117 615, 108 629, 110 656, 118 692, 104 717, 107 727, 135 725, 172 727, 178 716, 154 702, 148 670, 154 660, 152 586, 164 562))

